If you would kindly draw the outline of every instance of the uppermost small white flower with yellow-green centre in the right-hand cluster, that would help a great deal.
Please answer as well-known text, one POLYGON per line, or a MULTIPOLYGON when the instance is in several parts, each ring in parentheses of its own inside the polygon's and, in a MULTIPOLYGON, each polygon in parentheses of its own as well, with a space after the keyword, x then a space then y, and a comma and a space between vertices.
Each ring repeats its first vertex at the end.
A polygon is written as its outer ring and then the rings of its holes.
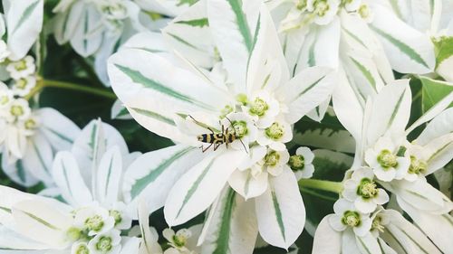
POLYGON ((379 180, 400 180, 408 173, 410 158, 397 155, 399 149, 390 137, 383 136, 365 152, 365 161, 379 180))

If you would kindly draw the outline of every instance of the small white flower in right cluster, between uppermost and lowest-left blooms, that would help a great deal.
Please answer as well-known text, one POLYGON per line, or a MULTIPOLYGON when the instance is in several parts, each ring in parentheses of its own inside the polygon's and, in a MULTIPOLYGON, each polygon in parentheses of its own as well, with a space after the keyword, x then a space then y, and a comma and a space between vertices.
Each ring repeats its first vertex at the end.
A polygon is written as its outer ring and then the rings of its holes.
POLYGON ((358 211, 373 212, 378 205, 389 202, 389 195, 373 181, 371 168, 361 167, 352 173, 351 179, 344 182, 344 198, 354 202, 358 211))

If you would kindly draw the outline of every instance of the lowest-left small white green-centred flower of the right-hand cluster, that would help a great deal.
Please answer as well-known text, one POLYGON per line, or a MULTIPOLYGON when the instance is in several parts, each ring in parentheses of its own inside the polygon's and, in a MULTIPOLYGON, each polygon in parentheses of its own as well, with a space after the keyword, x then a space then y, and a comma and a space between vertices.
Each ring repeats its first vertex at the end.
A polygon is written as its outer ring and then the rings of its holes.
POLYGON ((357 236, 365 236, 371 230, 370 213, 358 211, 353 202, 340 199, 333 204, 333 214, 329 222, 333 230, 352 229, 357 236))

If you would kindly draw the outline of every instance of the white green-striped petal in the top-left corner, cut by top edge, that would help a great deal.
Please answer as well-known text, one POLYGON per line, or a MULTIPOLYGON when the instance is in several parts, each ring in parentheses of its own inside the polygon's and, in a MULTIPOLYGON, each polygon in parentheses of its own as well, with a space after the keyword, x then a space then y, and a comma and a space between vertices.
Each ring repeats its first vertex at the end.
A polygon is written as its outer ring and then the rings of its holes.
POLYGON ((11 60, 23 58, 43 28, 43 0, 4 1, 11 60), (7 2, 7 3, 5 3, 7 2))

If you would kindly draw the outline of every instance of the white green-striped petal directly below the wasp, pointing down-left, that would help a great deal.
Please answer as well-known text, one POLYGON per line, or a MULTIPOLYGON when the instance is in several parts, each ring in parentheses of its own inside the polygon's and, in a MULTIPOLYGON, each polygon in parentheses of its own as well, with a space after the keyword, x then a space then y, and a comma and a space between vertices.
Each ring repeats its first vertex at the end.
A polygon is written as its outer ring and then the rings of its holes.
POLYGON ((182 224, 205 211, 245 158, 244 151, 218 150, 182 175, 165 203, 165 220, 169 226, 182 224))

